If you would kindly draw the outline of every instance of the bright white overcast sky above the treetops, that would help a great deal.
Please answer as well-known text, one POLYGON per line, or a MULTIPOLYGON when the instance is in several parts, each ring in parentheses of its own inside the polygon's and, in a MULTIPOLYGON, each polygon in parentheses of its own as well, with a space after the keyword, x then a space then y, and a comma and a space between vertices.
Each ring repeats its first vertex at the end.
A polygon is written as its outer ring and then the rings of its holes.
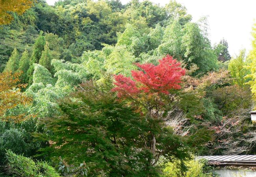
MULTIPOLYGON (((46 0, 53 5, 57 0, 46 0)), ((169 0, 150 0, 164 6, 169 0)), ((219 43, 224 37, 232 56, 239 50, 251 49, 252 25, 256 19, 256 0, 176 0, 187 7, 193 21, 208 16, 211 43, 219 43)), ((123 4, 129 0, 121 0, 123 4)))

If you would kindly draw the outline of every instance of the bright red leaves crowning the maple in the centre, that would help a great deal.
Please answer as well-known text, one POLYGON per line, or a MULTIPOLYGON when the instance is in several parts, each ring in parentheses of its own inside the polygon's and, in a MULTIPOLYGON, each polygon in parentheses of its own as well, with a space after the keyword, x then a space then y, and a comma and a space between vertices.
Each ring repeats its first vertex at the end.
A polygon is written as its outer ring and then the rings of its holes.
POLYGON ((141 71, 133 70, 132 80, 130 77, 125 77, 122 74, 115 75, 114 84, 117 86, 112 89, 113 92, 118 92, 117 96, 132 97, 139 93, 163 93, 169 94, 171 89, 181 89, 181 77, 185 75, 185 70, 180 67, 172 56, 167 55, 159 60, 159 65, 152 63, 139 64, 136 63, 141 71))

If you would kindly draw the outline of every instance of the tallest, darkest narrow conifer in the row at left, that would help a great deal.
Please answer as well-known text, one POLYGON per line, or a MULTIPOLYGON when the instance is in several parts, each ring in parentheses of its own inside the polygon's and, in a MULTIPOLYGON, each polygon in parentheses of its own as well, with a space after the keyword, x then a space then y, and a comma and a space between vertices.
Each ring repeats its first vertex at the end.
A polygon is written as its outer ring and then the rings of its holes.
POLYGON ((43 32, 41 31, 39 37, 37 38, 33 46, 33 53, 30 60, 30 67, 28 69, 27 76, 26 76, 26 82, 28 82, 29 85, 32 84, 32 80, 33 80, 33 71, 34 71, 33 64, 39 62, 42 51, 44 50, 44 46, 45 46, 45 37, 43 36, 43 32))

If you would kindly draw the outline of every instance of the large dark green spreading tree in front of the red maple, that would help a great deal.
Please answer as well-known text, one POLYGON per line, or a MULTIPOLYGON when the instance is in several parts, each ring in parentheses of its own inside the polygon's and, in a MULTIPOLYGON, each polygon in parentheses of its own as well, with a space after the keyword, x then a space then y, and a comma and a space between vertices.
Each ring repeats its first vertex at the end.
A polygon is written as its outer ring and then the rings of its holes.
POLYGON ((161 129, 161 120, 139 116, 116 101, 113 93, 98 90, 90 82, 80 87, 59 102, 60 116, 44 120, 53 132, 50 140, 56 143, 43 154, 51 152, 52 158, 61 155, 72 164, 83 159, 93 176, 154 176, 156 167, 148 162, 152 152, 144 139, 154 131, 157 148, 165 151, 167 159, 187 157, 186 146, 179 148, 182 136, 174 135, 170 127, 161 129))

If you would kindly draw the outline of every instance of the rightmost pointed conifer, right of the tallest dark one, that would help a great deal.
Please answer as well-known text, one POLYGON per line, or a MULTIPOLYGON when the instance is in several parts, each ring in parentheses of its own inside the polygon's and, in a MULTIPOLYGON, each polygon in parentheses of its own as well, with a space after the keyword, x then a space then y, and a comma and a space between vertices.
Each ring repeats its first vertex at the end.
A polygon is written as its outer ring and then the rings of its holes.
POLYGON ((44 66, 46 69, 48 69, 53 74, 53 68, 51 65, 52 61, 52 54, 49 49, 49 43, 45 43, 44 51, 42 52, 41 58, 39 59, 39 64, 44 66))

